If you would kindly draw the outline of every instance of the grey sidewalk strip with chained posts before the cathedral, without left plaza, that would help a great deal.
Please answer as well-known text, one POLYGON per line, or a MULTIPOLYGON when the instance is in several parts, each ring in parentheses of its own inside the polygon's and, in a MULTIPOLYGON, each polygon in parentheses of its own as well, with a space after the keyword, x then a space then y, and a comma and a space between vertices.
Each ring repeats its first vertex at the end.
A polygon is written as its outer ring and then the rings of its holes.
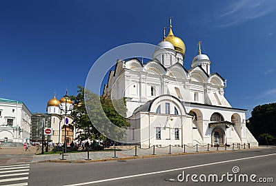
MULTIPOLYGON (((112 149, 112 147, 110 147, 112 149)), ((247 148, 248 149, 248 148, 247 148)), ((240 147, 238 149, 235 147, 234 151, 237 150, 246 150, 244 147, 240 147)), ((34 155, 32 162, 52 162, 52 163, 88 163, 88 162, 99 162, 99 161, 112 161, 112 160, 126 160, 126 159, 135 159, 135 158, 150 158, 150 157, 158 157, 158 156, 177 156, 184 154, 198 154, 198 153, 212 153, 212 152, 226 152, 233 151, 233 147, 210 147, 209 151, 207 151, 207 147, 186 147, 185 153, 184 149, 181 147, 165 147, 159 148, 155 147, 155 155, 153 155, 153 147, 150 149, 140 149, 137 147, 137 156, 135 156, 135 147, 131 147, 129 149, 122 149, 121 151, 115 152, 79 152, 79 153, 68 153, 66 156, 63 156, 64 160, 61 160, 62 156, 60 154, 44 154, 44 155, 34 155), (171 153, 171 154, 169 154, 171 153)))

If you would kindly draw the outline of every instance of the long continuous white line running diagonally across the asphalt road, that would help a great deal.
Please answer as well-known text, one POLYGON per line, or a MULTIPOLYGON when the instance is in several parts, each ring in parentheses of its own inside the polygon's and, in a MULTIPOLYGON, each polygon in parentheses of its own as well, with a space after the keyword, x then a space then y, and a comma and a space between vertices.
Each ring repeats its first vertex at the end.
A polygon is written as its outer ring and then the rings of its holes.
POLYGON ((90 181, 90 182, 85 182, 85 183, 76 183, 76 184, 72 184, 72 185, 63 185, 63 186, 79 186, 79 185, 88 185, 88 184, 93 184, 93 183, 103 183, 103 182, 108 182, 108 181, 112 181, 112 180, 122 180, 122 179, 126 179, 126 178, 135 178, 135 177, 139 177, 139 176, 148 176, 148 175, 152 175, 152 174, 161 174, 161 173, 165 173, 165 172, 174 172, 174 171, 179 171, 179 170, 182 170, 182 169, 191 169, 191 168, 196 168, 196 167, 204 167, 204 166, 208 166, 208 165, 216 165, 216 164, 220 164, 220 163, 228 163, 228 162, 233 162, 233 161, 248 160, 248 159, 260 158, 260 157, 265 157, 265 156, 273 156, 273 155, 276 155, 276 153, 275 154, 266 154, 266 155, 262 155, 262 156, 252 156, 252 157, 248 157, 248 158, 239 158, 239 159, 234 159, 234 160, 229 160, 229 161, 219 161, 219 162, 215 162, 215 163, 206 163, 206 164, 202 164, 202 165, 193 165, 193 166, 181 167, 181 168, 177 168, 177 169, 168 169, 168 170, 158 171, 158 172, 148 172, 148 173, 144 173, 144 174, 121 176, 121 177, 118 177, 118 178, 109 178, 109 179, 105 179, 105 180, 95 180, 95 181, 90 181))

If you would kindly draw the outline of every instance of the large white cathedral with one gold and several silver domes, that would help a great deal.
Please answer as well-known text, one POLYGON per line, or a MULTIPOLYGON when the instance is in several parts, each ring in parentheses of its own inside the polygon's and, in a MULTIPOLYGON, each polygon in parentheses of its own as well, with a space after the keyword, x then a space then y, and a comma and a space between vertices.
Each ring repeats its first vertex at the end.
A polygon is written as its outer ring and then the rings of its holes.
POLYGON ((231 145, 258 142, 246 127, 246 111, 224 97, 226 80, 210 72, 211 61, 199 54, 184 68, 184 41, 170 30, 158 43, 153 59, 118 60, 103 94, 126 98, 127 143, 159 145, 231 145))

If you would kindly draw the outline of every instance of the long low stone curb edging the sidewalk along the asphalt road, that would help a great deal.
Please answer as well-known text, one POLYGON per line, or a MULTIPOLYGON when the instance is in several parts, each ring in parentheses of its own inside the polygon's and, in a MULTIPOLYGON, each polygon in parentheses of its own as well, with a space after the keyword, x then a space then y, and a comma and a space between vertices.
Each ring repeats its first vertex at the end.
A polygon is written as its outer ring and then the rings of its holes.
MULTIPOLYGON (((259 147, 254 147, 250 149, 259 149, 259 147)), ((183 156, 189 154, 207 154, 207 153, 219 153, 219 152, 239 152, 239 151, 249 151, 250 149, 226 149, 219 151, 201 151, 201 152, 183 152, 176 154, 157 154, 157 155, 146 155, 146 156, 127 156, 123 158, 106 158, 106 159, 97 159, 97 160, 46 160, 46 161, 38 161, 32 163, 95 163, 95 162, 105 162, 105 161, 126 161, 132 159, 144 159, 144 158, 157 158, 157 157, 166 157, 166 156, 183 156)))

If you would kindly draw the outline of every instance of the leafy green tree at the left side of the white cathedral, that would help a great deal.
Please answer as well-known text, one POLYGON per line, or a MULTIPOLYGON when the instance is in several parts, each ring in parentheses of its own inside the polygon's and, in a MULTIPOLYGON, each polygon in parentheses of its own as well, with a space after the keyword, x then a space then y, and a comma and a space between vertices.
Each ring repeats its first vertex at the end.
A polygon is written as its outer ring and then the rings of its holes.
POLYGON ((126 101, 120 99, 112 103, 109 97, 100 97, 81 86, 78 88, 79 94, 71 96, 75 103, 72 116, 75 118, 75 126, 80 129, 77 139, 105 140, 107 136, 120 141, 124 138, 126 128, 130 126, 126 121, 126 101))

